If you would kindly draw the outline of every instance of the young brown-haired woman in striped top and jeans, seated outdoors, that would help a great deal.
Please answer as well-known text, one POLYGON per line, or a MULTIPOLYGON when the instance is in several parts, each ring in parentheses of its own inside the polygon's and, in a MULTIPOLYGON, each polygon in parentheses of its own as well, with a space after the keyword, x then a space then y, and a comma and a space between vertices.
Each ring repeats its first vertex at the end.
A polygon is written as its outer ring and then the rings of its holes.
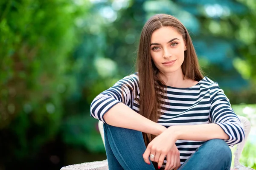
POLYGON ((167 14, 143 27, 137 73, 93 100, 110 170, 230 170, 244 140, 229 99, 201 74, 188 31, 167 14), (154 164, 154 165, 153 165, 154 164))

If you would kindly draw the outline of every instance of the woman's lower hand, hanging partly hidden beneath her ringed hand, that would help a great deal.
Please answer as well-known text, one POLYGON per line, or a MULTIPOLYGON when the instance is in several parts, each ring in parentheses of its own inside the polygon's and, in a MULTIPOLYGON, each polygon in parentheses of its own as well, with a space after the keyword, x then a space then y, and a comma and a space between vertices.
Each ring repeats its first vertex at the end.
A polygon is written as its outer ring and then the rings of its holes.
POLYGON ((164 170, 177 170, 180 167, 180 152, 176 146, 173 145, 172 149, 166 155, 166 167, 164 170))

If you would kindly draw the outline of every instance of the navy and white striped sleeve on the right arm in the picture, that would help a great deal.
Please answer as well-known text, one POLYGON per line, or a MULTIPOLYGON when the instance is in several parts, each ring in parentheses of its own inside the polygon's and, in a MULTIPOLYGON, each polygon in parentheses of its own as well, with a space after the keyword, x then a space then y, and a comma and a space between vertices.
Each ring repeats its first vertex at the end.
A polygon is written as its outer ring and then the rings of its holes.
POLYGON ((243 125, 231 108, 229 99, 215 83, 210 88, 211 107, 209 121, 218 124, 230 139, 225 140, 229 146, 244 140, 243 125))

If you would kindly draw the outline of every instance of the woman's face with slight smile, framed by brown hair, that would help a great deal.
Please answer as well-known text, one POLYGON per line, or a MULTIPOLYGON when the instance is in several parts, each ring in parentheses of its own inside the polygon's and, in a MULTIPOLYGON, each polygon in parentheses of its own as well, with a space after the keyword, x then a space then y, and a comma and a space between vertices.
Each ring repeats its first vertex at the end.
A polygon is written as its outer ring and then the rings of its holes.
POLYGON ((151 58, 163 74, 181 70, 185 50, 186 45, 182 35, 170 26, 155 30, 151 36, 151 58))

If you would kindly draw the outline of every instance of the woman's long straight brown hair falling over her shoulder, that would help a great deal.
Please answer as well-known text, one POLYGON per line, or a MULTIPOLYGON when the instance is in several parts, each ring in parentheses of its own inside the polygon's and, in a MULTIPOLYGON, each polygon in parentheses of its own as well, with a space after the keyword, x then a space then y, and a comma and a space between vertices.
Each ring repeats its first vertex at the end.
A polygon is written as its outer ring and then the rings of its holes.
MULTIPOLYGON (((184 62, 181 65, 182 72, 185 76, 184 79, 200 81, 204 78, 199 67, 191 37, 183 24, 180 23, 177 18, 167 14, 157 14, 149 18, 140 36, 137 54, 137 71, 140 79, 140 114, 154 122, 157 122, 161 115, 160 106, 164 104, 164 101, 161 100, 161 96, 165 91, 164 87, 161 86, 164 82, 161 82, 157 77, 159 70, 151 59, 150 41, 152 33, 163 26, 175 28, 175 30, 182 35, 187 46, 184 62)), ((154 135, 143 133, 146 146, 154 137, 154 135)))

